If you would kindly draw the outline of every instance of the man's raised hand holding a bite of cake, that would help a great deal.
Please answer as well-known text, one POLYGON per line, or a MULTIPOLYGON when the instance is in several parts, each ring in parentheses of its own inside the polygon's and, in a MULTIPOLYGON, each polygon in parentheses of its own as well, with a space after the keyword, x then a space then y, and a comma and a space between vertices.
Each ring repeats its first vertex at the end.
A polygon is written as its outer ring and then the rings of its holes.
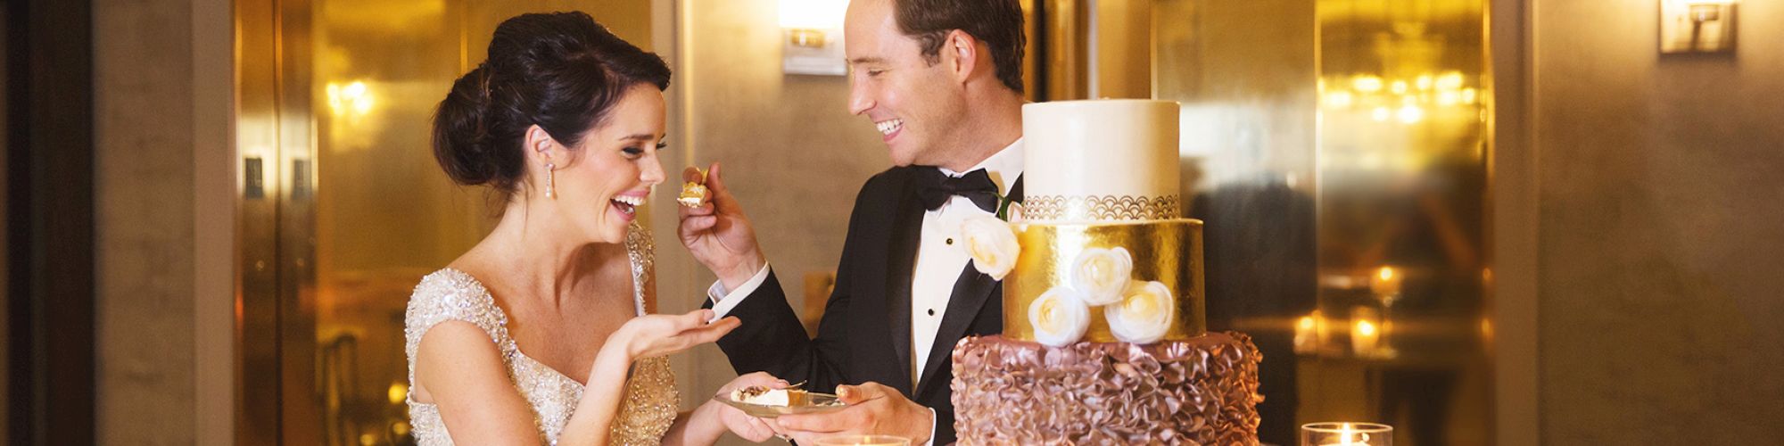
MULTIPOLYGON (((683 182, 699 182, 699 169, 681 169, 683 182)), ((744 209, 724 187, 719 164, 714 162, 706 175, 708 198, 699 207, 678 207, 681 214, 681 244, 694 253, 694 259, 712 269, 724 284, 724 289, 737 289, 767 260, 756 244, 756 232, 744 218, 744 209)))

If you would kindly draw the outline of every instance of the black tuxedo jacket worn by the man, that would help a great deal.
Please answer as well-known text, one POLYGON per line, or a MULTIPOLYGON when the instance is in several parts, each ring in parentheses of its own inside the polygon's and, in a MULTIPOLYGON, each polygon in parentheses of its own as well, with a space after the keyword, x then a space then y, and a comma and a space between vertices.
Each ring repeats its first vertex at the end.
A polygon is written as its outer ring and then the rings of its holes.
MULTIPOLYGON (((912 389, 910 293, 924 214, 913 178, 921 169, 935 168, 892 168, 862 186, 849 214, 837 289, 819 321, 817 339, 806 337, 771 271, 767 282, 730 310, 742 326, 719 339, 719 348, 737 373, 767 371, 787 382, 806 380, 805 389, 890 385, 935 409, 935 444, 949 444, 954 442, 949 353, 962 337, 1003 332, 1003 284, 970 262, 960 271, 926 368, 915 371, 921 380, 912 389)), ((1020 178, 1010 196, 1020 200, 1020 178)))

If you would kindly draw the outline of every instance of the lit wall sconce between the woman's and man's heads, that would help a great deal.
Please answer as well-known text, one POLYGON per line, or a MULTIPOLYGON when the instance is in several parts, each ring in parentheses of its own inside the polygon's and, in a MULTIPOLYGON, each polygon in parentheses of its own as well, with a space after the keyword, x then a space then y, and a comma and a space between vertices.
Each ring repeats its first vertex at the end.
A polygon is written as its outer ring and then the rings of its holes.
POLYGON ((849 0, 780 0, 781 71, 847 75, 842 54, 842 12, 849 0))

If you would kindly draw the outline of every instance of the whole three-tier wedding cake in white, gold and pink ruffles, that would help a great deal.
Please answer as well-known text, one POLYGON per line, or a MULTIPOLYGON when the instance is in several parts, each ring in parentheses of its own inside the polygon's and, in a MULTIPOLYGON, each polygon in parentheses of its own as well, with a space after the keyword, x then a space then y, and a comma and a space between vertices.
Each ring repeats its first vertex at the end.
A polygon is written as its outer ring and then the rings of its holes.
MULTIPOLYGON (((1258 348, 1202 325, 1177 103, 1029 103, 1022 132, 1004 330, 954 346, 960 442, 1256 444, 1258 348)), ((981 269, 1010 255, 969 244, 981 269)))

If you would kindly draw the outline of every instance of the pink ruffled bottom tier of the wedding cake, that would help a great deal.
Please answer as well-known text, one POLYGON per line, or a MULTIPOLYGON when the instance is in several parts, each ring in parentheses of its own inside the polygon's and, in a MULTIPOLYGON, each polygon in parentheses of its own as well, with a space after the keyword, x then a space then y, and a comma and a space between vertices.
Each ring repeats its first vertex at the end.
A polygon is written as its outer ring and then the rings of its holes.
POLYGON ((1238 332, 1049 348, 954 346, 960 444, 1258 444, 1258 346, 1238 332))

